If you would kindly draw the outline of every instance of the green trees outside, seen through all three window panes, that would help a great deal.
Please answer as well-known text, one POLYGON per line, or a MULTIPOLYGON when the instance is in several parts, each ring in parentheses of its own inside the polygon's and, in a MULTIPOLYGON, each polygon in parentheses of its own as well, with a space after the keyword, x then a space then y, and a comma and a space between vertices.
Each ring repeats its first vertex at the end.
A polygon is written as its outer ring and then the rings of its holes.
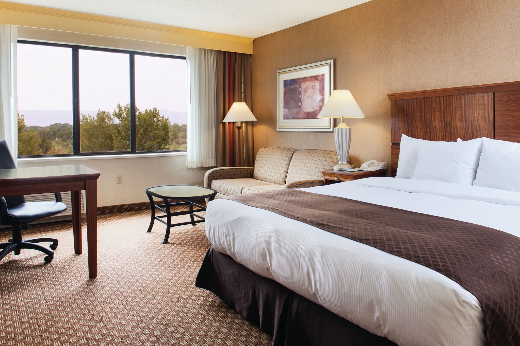
MULTIPOLYGON (((81 114, 81 151, 129 151, 130 125, 129 104, 118 103, 112 113, 99 109, 95 116, 81 114)), ((72 132, 68 123, 27 127, 18 115, 18 155, 72 154, 72 132)), ((136 107, 136 146, 138 151, 186 149, 186 124, 171 124, 157 108, 136 107)))

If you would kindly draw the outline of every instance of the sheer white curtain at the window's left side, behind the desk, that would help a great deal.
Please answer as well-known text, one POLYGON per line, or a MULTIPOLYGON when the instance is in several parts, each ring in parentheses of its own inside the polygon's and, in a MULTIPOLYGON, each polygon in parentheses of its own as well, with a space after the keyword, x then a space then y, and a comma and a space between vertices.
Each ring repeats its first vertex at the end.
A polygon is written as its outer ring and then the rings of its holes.
POLYGON ((0 24, 0 140, 7 142, 15 163, 18 157, 17 36, 17 26, 0 24))

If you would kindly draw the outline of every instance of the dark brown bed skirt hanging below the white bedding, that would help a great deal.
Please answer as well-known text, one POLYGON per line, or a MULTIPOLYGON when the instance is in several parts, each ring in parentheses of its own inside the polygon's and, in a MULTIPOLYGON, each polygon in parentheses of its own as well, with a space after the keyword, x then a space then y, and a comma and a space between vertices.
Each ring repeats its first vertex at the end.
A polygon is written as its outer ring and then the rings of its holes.
POLYGON ((269 334, 274 346, 396 345, 252 272, 213 246, 207 250, 195 285, 210 290, 269 334))

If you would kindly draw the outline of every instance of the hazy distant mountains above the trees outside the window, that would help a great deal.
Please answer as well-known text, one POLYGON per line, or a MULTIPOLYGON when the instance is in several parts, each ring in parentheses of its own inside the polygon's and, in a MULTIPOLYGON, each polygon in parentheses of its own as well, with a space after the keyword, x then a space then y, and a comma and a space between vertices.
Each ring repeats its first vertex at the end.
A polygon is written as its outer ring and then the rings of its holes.
MULTIPOLYGON (((174 112, 173 110, 159 109, 161 115, 170 119, 170 122, 185 124, 186 113, 174 112)), ((48 126, 57 122, 64 123, 68 122, 72 124, 72 110, 24 110, 19 109, 19 114, 25 116, 25 124, 27 126, 48 126)), ((95 115, 97 110, 82 110, 83 114, 95 115)))

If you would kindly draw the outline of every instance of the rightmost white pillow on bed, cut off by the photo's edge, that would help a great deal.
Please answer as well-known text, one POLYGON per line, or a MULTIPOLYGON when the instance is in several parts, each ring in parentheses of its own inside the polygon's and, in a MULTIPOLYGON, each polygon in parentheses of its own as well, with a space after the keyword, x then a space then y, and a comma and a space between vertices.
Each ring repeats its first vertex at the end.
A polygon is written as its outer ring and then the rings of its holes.
POLYGON ((520 192, 520 144, 484 139, 473 185, 520 192))

